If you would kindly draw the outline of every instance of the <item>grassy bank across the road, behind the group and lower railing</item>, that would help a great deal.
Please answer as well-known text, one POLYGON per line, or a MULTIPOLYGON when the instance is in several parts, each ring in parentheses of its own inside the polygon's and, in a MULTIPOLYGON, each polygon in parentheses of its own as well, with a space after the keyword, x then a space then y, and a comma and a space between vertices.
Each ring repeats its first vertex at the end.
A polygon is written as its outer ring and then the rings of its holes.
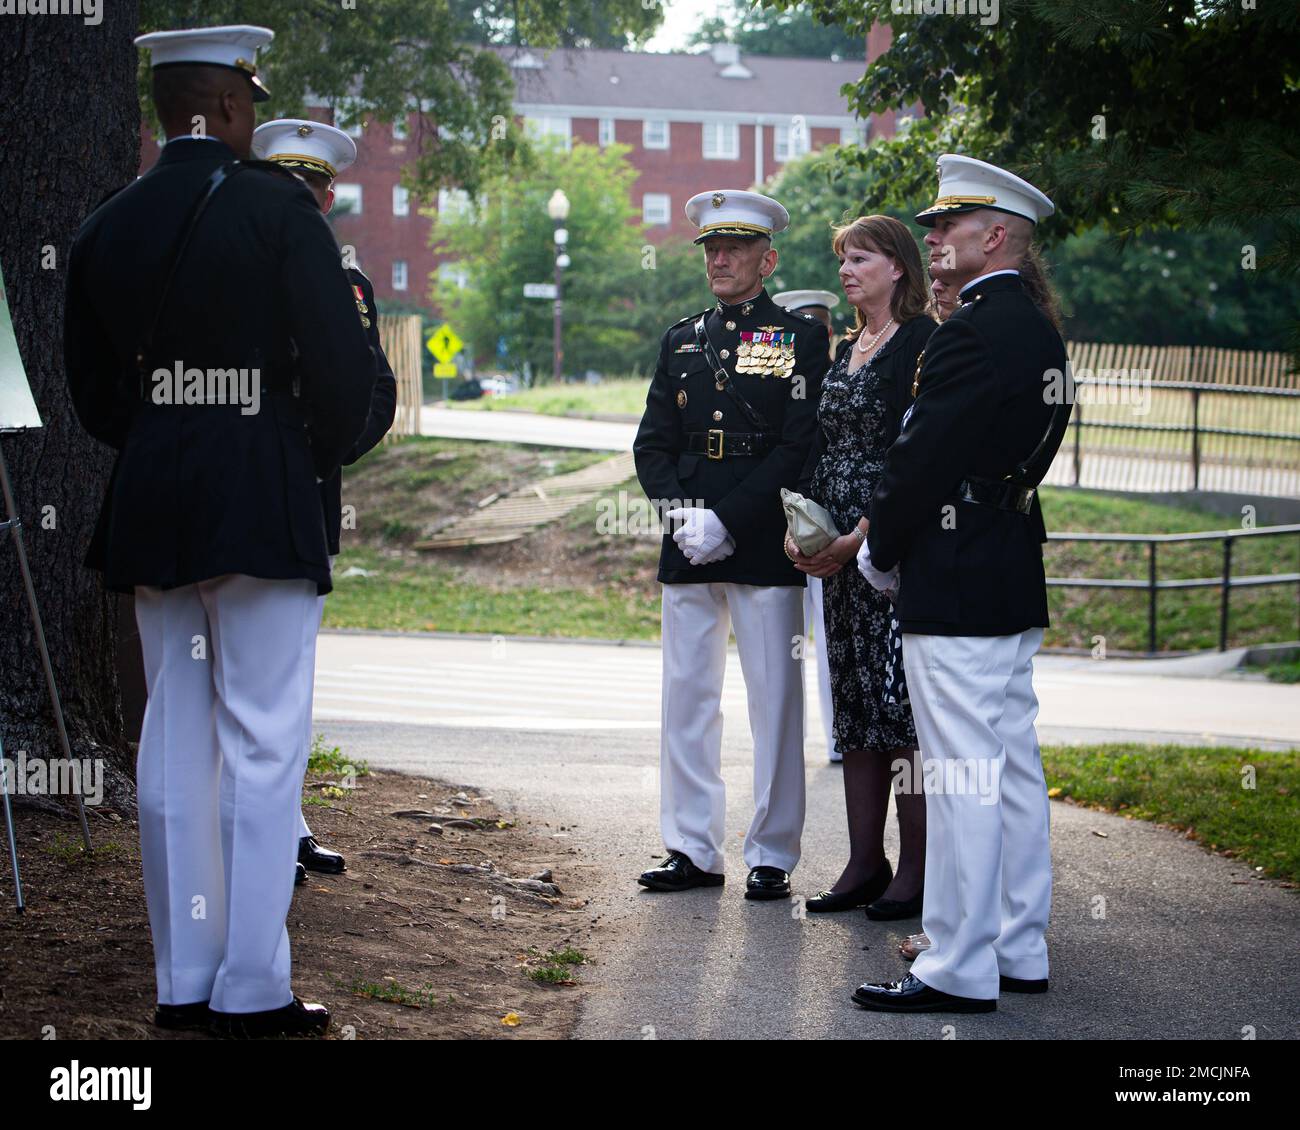
MULTIPOLYGON (((407 440, 370 453, 344 477, 344 503, 355 505, 356 529, 346 531, 329 627, 451 631, 555 637, 654 640, 659 635, 658 542, 611 534, 597 520, 601 501, 510 546, 420 553, 429 529, 465 514, 493 493, 545 480, 594 460, 601 453, 529 449, 452 440, 407 440), (348 567, 369 576, 344 577, 348 567)), ((619 490, 640 501, 636 481, 619 490)), ((1193 507, 1160 506, 1089 490, 1044 488, 1048 528, 1074 532, 1166 533, 1221 529, 1230 519, 1193 507)), ((1050 542, 1049 576, 1147 575, 1145 546, 1050 542)), ((1213 577, 1222 544, 1162 546, 1161 577, 1213 577)), ((1253 538, 1235 549, 1235 573, 1300 570, 1300 538, 1253 538)), ((1109 651, 1145 648, 1147 598, 1141 592, 1049 590, 1046 646, 1109 651)), ((1160 594, 1161 649, 1218 644, 1217 588, 1160 594)), ((1232 646, 1294 640, 1296 588, 1236 590, 1231 596, 1232 646)))

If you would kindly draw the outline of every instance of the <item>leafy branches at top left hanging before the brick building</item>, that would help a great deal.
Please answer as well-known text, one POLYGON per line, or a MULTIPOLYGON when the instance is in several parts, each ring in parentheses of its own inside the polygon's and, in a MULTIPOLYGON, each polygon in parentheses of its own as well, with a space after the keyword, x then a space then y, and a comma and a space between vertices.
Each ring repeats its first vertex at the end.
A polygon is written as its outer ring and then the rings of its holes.
MULTIPOLYGON (((424 199, 442 186, 477 191, 524 151, 510 68, 489 42, 581 46, 644 36, 662 13, 641 0, 142 0, 140 30, 257 23, 276 33, 259 72, 273 99, 264 118, 300 116, 308 100, 344 125, 391 122, 419 107, 407 183, 424 199)), ((147 60, 142 87, 147 90, 147 60)), ((146 99, 147 103, 147 99, 146 99)))

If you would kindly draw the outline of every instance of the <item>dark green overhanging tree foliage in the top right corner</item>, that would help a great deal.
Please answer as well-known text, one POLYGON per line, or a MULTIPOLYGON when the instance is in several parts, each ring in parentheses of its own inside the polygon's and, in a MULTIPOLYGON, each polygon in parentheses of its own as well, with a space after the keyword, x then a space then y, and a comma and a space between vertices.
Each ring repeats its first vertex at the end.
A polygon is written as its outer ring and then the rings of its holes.
POLYGON ((1001 0, 984 23, 893 0, 810 3, 849 34, 894 31, 850 95, 859 116, 928 113, 853 155, 876 172, 872 207, 933 191, 935 157, 968 152, 1050 191, 1049 239, 1098 224, 1266 229, 1262 285, 1300 270, 1300 5, 1001 0))

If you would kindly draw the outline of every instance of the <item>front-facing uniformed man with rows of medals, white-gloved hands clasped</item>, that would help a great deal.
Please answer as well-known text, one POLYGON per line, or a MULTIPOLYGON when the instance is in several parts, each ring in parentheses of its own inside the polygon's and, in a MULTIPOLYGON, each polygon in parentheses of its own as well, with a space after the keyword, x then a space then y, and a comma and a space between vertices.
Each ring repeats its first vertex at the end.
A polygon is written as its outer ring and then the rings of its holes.
POLYGON ((680 891, 723 883, 723 674, 733 629, 754 739, 746 897, 790 893, 803 827, 803 575, 783 549, 780 489, 816 429, 828 335, 763 289, 785 209, 758 192, 686 204, 720 296, 663 335, 633 443, 664 512, 660 826, 668 858, 640 878, 680 891))

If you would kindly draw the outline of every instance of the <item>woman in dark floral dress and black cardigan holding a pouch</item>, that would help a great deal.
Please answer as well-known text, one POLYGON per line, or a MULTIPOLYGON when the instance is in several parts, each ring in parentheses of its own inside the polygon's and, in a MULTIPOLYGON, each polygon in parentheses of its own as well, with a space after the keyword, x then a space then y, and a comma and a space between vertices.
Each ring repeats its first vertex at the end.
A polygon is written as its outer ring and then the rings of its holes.
POLYGON ((822 385, 818 441, 801 493, 824 506, 846 531, 820 554, 805 557, 786 538, 786 555, 823 577, 826 640, 835 705, 835 740, 844 752, 849 862, 840 878, 806 904, 809 910, 866 906, 867 917, 920 914, 926 875, 926 798, 916 731, 902 688, 893 606, 854 567, 866 538, 867 510, 911 403, 916 364, 935 322, 916 241, 889 216, 862 216, 835 233, 840 282, 857 309, 822 385), (900 831, 897 874, 884 850, 890 780, 900 831))

